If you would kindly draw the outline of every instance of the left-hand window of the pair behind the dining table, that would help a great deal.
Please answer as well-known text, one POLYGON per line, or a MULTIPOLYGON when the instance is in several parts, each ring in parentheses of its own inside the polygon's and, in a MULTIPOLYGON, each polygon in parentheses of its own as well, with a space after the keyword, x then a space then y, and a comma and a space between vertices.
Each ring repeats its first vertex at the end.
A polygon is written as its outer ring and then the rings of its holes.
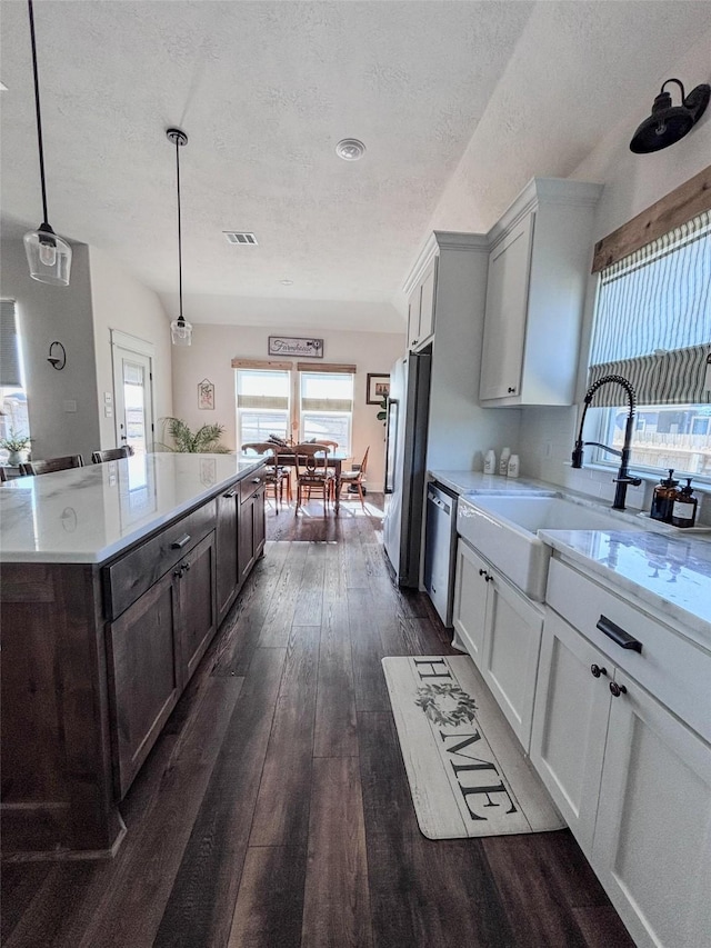
POLYGON ((237 443, 289 437, 291 372, 237 370, 237 443))

